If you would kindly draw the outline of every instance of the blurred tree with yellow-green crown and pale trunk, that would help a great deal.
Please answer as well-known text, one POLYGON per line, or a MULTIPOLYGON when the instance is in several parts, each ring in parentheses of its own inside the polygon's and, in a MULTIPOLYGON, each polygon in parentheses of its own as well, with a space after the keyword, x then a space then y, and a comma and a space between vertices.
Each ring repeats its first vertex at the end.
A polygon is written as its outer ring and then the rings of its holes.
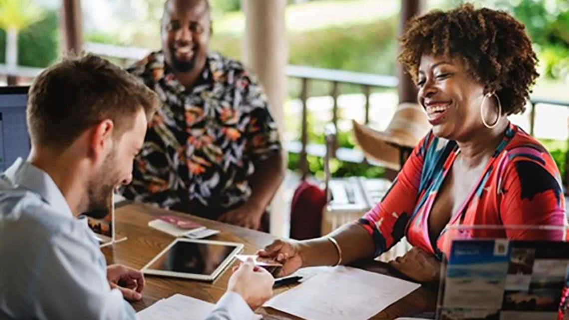
POLYGON ((0 28, 6 31, 6 64, 18 65, 18 33, 43 18, 32 0, 0 0, 0 28))

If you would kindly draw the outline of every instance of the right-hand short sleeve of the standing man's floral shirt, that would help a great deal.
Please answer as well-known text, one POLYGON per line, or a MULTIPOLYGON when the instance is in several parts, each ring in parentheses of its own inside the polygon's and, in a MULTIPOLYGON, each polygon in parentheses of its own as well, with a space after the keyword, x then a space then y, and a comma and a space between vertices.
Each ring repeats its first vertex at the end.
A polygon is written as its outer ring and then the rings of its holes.
POLYGON ((281 150, 277 122, 271 116, 269 102, 256 79, 245 76, 244 104, 249 110, 249 124, 246 129, 246 150, 254 161, 263 161, 281 150))

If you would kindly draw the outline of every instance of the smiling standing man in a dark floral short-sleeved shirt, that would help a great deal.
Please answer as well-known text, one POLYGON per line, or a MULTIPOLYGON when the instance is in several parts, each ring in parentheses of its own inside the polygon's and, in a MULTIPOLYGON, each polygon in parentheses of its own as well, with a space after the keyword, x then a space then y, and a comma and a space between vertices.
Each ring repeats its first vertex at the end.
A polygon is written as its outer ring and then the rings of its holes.
POLYGON ((241 63, 208 52, 209 9, 207 0, 168 0, 162 50, 128 69, 163 106, 123 195, 259 229, 283 179, 277 125, 241 63))

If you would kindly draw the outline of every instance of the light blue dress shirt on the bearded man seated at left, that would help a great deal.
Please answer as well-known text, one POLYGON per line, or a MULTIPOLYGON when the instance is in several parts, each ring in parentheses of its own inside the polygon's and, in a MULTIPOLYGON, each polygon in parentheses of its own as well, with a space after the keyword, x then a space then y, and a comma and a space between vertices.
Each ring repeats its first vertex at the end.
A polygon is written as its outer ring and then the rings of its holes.
MULTIPOLYGON (((226 293, 207 319, 251 317, 241 296, 226 293)), ((50 175, 15 161, 0 175, 0 319, 136 318, 110 289, 94 234, 50 175)))

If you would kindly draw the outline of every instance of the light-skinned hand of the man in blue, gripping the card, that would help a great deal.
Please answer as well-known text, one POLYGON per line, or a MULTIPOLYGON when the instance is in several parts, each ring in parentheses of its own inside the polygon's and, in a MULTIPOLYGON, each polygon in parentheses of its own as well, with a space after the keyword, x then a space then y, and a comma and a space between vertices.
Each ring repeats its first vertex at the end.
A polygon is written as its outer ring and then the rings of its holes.
POLYGON ((227 290, 239 294, 255 310, 273 296, 274 283, 273 276, 267 270, 254 266, 253 259, 249 258, 233 268, 227 290))

